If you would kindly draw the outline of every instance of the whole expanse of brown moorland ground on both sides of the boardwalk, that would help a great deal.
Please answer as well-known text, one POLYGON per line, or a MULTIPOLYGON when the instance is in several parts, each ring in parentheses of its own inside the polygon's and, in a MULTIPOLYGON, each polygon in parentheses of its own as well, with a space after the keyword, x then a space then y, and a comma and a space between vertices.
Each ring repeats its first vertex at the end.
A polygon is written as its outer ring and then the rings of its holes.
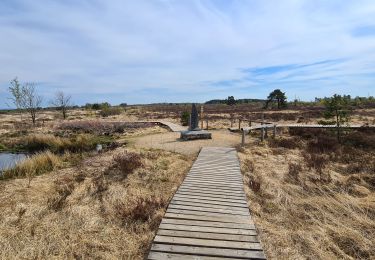
MULTIPOLYGON (((212 140, 181 142, 152 124, 179 123, 190 106, 130 106, 102 117, 72 110, 0 115, 0 148, 35 154, 0 180, 1 258, 143 258, 169 200, 203 146, 238 147, 249 208, 269 259, 371 259, 375 241, 375 135, 283 130, 238 145, 238 120, 316 123, 321 108, 266 111, 205 106, 212 140), (95 152, 103 145, 101 153, 95 152), (39 158, 35 159, 37 156, 39 158)), ((351 122, 373 124, 375 109, 351 122)), ((246 122, 242 122, 246 124, 246 122)), ((204 126, 206 126, 204 124, 204 126)))

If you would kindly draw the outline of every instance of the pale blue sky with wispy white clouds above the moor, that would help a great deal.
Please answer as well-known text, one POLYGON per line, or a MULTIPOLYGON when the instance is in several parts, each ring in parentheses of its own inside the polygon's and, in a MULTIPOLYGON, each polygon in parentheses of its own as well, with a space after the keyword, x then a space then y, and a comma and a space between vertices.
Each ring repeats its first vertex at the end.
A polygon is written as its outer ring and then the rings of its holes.
POLYGON ((375 95, 373 0, 2 0, 0 36, 0 107, 375 95))

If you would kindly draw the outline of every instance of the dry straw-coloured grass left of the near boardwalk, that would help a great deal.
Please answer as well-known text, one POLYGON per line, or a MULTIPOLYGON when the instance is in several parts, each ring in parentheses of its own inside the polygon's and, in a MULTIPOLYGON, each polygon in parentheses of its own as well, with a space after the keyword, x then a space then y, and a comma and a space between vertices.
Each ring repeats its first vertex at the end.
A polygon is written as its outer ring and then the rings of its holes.
POLYGON ((124 176, 114 156, 26 180, 0 182, 0 259, 142 259, 192 158, 132 150, 124 176))

